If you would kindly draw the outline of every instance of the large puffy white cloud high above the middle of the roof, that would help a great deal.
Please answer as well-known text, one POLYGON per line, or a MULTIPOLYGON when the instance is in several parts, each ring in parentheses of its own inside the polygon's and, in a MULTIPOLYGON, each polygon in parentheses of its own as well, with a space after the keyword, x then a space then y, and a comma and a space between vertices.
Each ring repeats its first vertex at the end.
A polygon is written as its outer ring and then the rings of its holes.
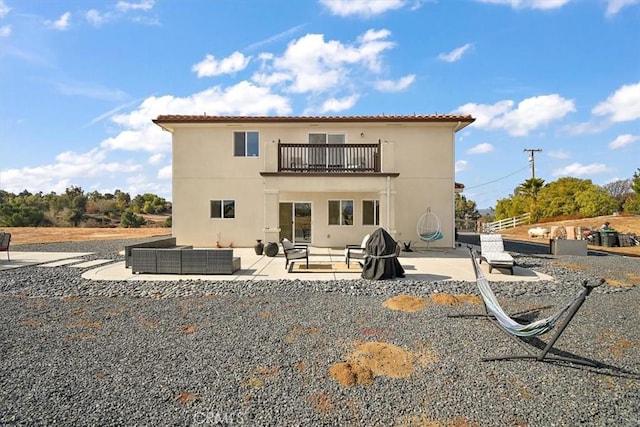
POLYGON ((261 73, 254 81, 261 84, 288 84, 294 93, 321 93, 350 84, 350 73, 363 70, 378 73, 382 54, 395 44, 387 40, 388 30, 368 30, 350 45, 325 41, 322 34, 307 34, 292 41, 282 56, 262 55, 261 73), (273 77, 275 76, 275 78, 273 77))

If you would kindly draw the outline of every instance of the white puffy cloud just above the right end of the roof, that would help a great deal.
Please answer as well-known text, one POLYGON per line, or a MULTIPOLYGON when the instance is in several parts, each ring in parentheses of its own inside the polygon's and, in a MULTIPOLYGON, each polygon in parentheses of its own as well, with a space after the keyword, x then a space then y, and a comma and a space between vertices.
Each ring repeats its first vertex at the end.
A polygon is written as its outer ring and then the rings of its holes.
POLYGON ((474 127, 503 129, 512 136, 526 136, 576 111, 572 100, 557 94, 534 96, 520 101, 516 108, 513 105, 511 100, 493 105, 469 103, 458 107, 455 112, 475 117, 474 127))

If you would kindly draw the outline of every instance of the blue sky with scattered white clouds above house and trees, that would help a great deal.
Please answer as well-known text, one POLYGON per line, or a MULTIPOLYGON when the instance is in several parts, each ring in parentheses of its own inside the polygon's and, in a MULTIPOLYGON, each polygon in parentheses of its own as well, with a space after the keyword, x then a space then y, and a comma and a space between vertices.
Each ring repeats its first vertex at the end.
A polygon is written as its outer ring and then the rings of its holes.
POLYGON ((0 0, 0 188, 171 199, 160 114, 471 114, 479 208, 640 167, 640 0, 0 0))

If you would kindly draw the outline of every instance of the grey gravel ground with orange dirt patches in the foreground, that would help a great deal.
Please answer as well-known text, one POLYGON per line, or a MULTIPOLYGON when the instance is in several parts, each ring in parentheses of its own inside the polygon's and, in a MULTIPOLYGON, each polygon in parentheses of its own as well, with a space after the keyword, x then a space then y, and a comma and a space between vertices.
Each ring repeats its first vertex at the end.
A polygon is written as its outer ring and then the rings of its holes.
MULTIPOLYGON (((140 240, 12 250, 122 260, 124 245, 140 240)), ((633 258, 551 257, 515 242, 507 250, 555 278, 496 286, 507 311, 529 320, 583 280, 640 274, 633 258)), ((480 305, 435 302, 477 294, 469 282, 92 282, 82 272, 0 272, 0 424, 639 425, 640 286, 596 288, 559 339, 562 353, 601 364, 587 368, 480 361, 519 348, 487 321, 447 317, 480 305), (426 306, 383 305, 401 294, 426 306), (330 369, 355 363, 370 342, 382 348, 364 356, 377 363, 372 383, 334 379, 330 369)))

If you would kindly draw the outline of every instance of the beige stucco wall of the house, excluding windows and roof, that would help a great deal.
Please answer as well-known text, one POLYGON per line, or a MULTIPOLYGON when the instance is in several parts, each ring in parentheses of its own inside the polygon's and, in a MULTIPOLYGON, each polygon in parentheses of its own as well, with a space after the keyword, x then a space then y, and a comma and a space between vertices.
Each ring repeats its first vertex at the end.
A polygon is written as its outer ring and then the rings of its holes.
POLYGON ((380 225, 397 240, 419 245, 416 225, 430 207, 443 224, 445 238, 432 246, 453 246, 454 129, 452 123, 385 125, 180 124, 173 133, 173 232, 179 244, 212 247, 252 246, 255 239, 276 240, 278 203, 311 202, 312 244, 340 247, 358 243, 376 227, 363 227, 361 201, 380 200, 380 225), (233 156, 233 132, 258 131, 258 157, 233 156), (398 177, 267 176, 277 171, 277 141, 303 143, 310 132, 345 133, 347 143, 382 144, 383 172, 398 177), (387 194, 390 201, 387 208, 387 194), (231 199, 235 219, 209 218, 210 200, 231 199), (329 226, 328 200, 354 201, 353 226, 329 226), (275 211, 274 211, 275 210, 275 211), (389 217, 387 218, 387 216, 389 217))

